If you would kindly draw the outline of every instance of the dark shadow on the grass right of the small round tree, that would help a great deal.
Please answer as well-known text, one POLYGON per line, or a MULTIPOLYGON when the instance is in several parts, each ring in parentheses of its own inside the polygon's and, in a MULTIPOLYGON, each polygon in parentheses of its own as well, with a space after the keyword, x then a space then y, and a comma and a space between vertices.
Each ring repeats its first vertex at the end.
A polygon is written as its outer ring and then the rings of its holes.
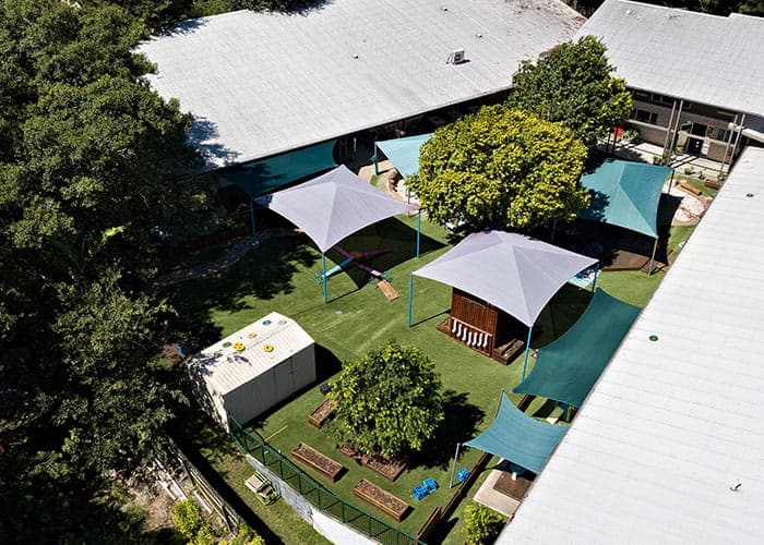
POLYGON ((486 417, 482 409, 467 401, 466 392, 446 390, 443 393, 443 412, 434 436, 411 455, 414 467, 447 469, 457 443, 465 443, 477 435, 477 425, 486 417))

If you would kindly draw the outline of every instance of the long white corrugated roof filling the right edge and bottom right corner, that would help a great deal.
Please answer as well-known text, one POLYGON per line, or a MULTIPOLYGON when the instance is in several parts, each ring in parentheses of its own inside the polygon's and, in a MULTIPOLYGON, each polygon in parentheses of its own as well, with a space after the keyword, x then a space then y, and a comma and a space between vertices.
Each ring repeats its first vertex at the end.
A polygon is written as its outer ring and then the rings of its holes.
POLYGON ((764 542, 762 232, 748 148, 498 543, 764 542))

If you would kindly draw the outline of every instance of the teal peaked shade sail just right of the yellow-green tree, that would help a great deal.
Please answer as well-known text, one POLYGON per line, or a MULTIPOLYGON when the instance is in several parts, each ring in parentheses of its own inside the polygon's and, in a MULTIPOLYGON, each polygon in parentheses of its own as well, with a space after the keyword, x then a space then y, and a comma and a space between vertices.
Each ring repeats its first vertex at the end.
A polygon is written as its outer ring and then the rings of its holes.
POLYGON ((581 177, 581 185, 592 191, 592 204, 578 217, 657 239, 660 191, 670 174, 668 167, 607 159, 581 177))

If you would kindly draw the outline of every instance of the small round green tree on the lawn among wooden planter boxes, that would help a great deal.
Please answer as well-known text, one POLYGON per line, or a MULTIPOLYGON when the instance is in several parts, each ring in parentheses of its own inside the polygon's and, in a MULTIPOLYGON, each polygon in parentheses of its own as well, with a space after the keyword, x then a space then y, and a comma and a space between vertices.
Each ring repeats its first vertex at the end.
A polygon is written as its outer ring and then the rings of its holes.
POLYGON ((329 396, 335 435, 366 455, 395 458, 419 449, 443 420, 432 362, 420 349, 394 341, 343 364, 329 396))

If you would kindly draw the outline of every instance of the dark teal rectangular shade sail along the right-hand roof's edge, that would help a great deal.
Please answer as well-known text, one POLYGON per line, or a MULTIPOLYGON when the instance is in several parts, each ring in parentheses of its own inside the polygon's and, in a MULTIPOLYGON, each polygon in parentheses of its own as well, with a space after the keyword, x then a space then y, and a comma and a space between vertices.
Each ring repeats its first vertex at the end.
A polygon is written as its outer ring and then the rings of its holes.
POLYGON ((597 290, 573 327, 539 349, 533 371, 512 391, 581 407, 640 311, 597 290))

